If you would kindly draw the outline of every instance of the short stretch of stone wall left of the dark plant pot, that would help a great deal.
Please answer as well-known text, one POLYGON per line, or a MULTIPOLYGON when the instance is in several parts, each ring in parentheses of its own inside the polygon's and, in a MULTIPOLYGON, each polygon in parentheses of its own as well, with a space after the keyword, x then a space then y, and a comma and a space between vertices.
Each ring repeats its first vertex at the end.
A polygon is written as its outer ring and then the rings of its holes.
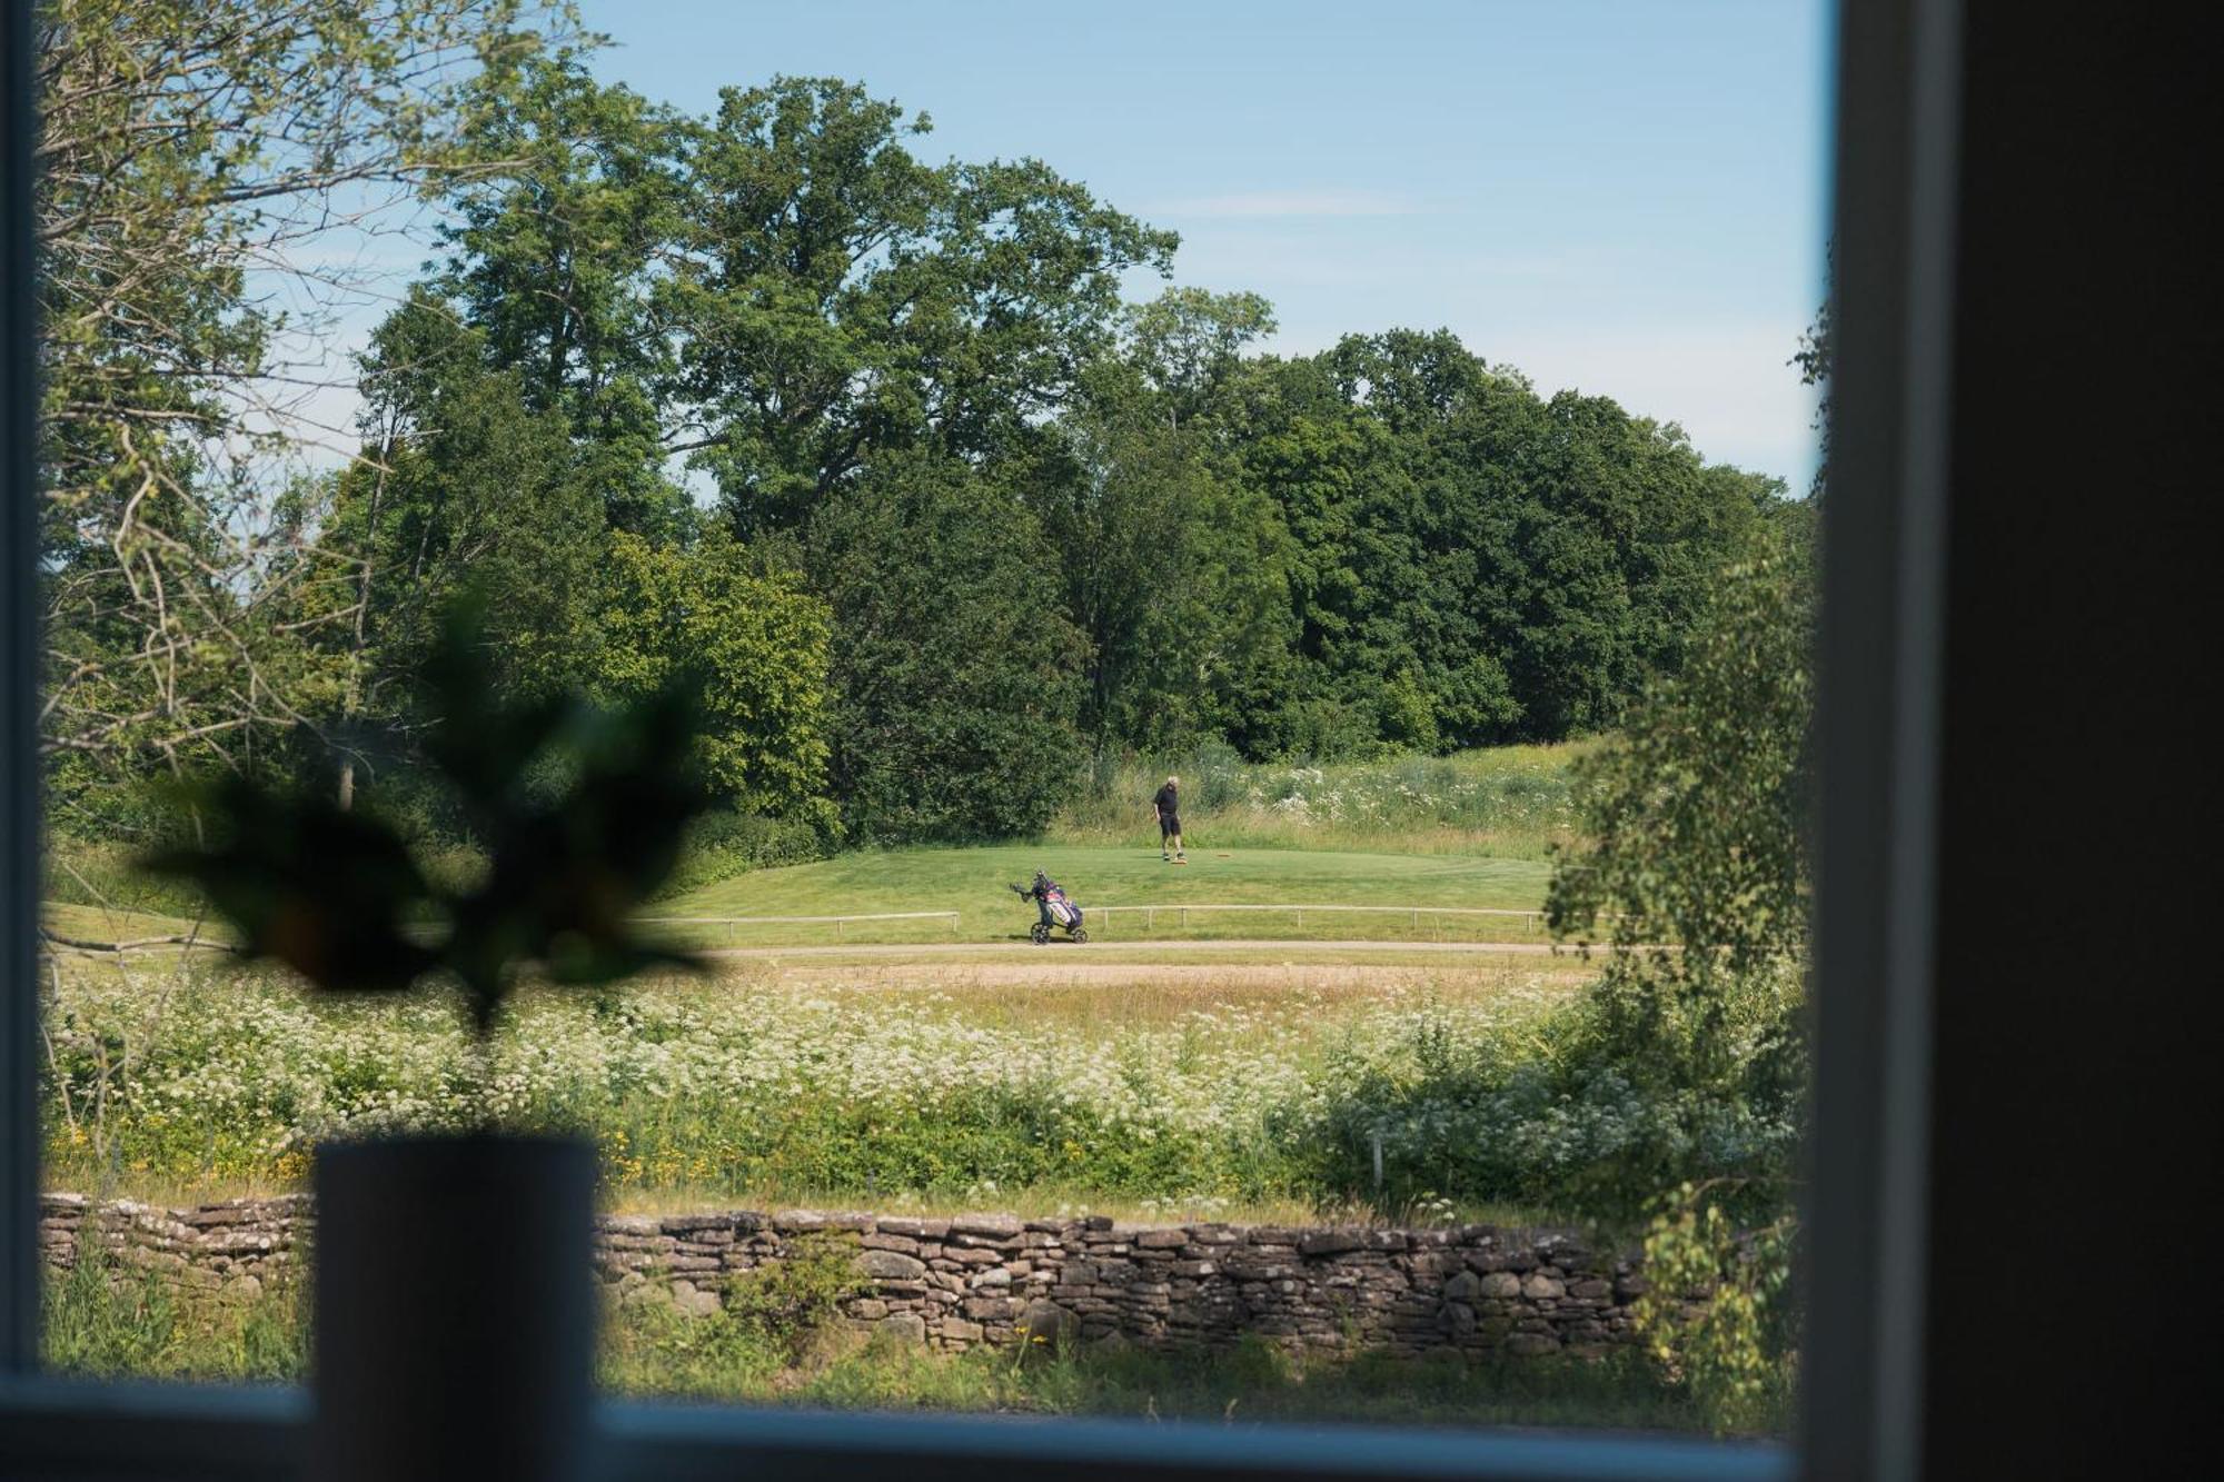
POLYGON ((160 1208, 49 1193, 38 1206, 40 1248, 58 1271, 73 1268, 80 1253, 98 1253, 118 1282, 151 1275, 236 1300, 260 1297, 296 1273, 309 1215, 307 1195, 160 1208))

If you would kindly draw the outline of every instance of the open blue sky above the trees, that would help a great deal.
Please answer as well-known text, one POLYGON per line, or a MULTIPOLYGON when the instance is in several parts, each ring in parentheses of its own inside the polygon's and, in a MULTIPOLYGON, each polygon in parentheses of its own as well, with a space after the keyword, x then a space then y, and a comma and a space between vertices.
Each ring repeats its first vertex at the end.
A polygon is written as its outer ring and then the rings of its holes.
MULTIPOLYGON (((703 111, 774 73, 1039 156, 1257 289, 1277 349, 1454 329, 1539 389, 1677 421, 1804 490, 1784 365, 1821 298, 1821 0, 585 0, 596 71, 703 111)), ((1156 280, 1136 278, 1148 296, 1156 280)))

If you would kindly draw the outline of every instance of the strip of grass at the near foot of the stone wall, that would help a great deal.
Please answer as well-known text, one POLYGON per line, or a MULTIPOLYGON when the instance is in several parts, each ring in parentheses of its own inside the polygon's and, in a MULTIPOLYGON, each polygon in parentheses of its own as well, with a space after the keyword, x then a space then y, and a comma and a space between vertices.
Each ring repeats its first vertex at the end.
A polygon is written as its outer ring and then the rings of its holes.
MULTIPOLYGON (((98 1259, 49 1273, 47 1366, 98 1377, 298 1382, 307 1302, 298 1286, 193 1295, 156 1277, 113 1280, 98 1259)), ((1134 1415, 1156 1420, 1357 1420, 1699 1431, 1706 1413, 1637 1353, 1477 1362, 1310 1355, 1265 1340, 1232 1348, 974 1348, 936 1355, 854 1333, 832 1262, 767 1268, 712 1315, 658 1293, 603 1308, 598 1377, 627 1395, 870 1411, 1134 1415)), ((1779 1426, 1775 1426, 1779 1429, 1779 1426)))

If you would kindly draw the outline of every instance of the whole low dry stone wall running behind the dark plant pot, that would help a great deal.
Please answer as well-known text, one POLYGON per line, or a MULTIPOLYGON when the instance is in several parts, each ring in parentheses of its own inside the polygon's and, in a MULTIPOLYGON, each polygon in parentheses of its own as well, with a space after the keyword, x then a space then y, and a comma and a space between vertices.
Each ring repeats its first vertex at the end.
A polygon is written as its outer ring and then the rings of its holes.
MULTIPOLYGON (((287 1280, 309 1235, 305 1197, 200 1208, 89 1204, 49 1195, 47 1259, 98 1251, 251 1297, 287 1280)), ((478 1233, 456 1231, 458 1257, 478 1233)), ((1312 1226, 1116 1226, 1110 1219, 956 1215, 914 1219, 827 1211, 772 1215, 605 1215, 596 1275, 618 1302, 716 1311, 727 1284, 790 1259, 798 1242, 854 1248, 843 1315, 905 1342, 1225 1344, 1243 1335, 1303 1348, 1597 1355, 1632 1342, 1644 1280, 1628 1259, 1568 1231, 1312 1226)))

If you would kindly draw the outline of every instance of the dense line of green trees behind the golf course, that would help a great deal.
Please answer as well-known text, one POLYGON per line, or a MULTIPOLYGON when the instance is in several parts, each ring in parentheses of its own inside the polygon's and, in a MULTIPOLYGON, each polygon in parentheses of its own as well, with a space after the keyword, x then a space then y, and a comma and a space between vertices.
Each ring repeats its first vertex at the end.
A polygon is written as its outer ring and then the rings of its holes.
MULTIPOLYGON (((409 806, 418 663, 463 594, 500 685, 689 676, 734 810, 861 839, 1034 830, 1092 754, 1559 739, 1672 674, 1717 576, 1797 512, 1448 332, 1270 356, 1252 294, 1123 303, 1172 234, 1041 160, 930 162, 927 118, 863 87, 776 78, 698 118, 514 7, 389 11, 480 60, 438 138, 423 109, 358 151, 436 160, 414 185, 447 223, 363 354, 360 454, 265 494, 218 563, 193 541, 240 530, 251 481, 156 416, 189 374, 56 425, 53 774, 87 826, 122 821, 118 779, 218 754, 409 806), (165 449, 136 505, 125 443, 165 449), (91 518, 162 501, 160 541, 91 518), (149 639, 133 561, 191 574, 198 616, 149 639)), ((185 140, 169 178, 229 169, 185 140)), ((251 327, 238 267, 178 292, 209 336, 251 327)))

